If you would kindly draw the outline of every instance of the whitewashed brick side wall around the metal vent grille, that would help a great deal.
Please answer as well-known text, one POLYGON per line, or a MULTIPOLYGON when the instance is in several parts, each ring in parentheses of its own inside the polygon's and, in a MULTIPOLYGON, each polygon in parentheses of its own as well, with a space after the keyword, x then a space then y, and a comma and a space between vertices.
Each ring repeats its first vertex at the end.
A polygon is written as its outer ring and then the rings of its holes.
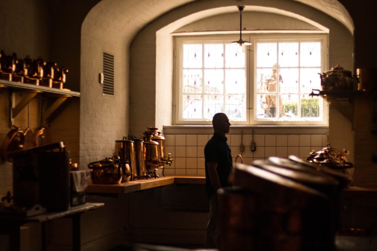
POLYGON ((117 153, 115 140, 128 135, 129 41, 116 37, 124 26, 109 26, 105 9, 98 4, 81 30, 80 162, 86 167, 117 153), (103 96, 98 82, 103 52, 114 55, 114 97, 103 96))

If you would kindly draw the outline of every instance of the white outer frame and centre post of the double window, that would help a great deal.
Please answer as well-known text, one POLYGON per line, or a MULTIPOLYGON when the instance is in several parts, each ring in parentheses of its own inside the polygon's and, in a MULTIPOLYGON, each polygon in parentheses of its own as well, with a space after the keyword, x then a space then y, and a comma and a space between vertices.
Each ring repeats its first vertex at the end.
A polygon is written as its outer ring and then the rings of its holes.
MULTIPOLYGON (((297 40, 297 39, 320 39, 322 40, 322 69, 328 69, 328 34, 243 34, 242 39, 248 40, 252 43, 251 46, 245 47, 245 57, 246 57, 246 109, 247 117, 246 121, 231 121, 232 125, 267 125, 267 126, 328 126, 328 103, 320 98, 322 109, 323 120, 322 121, 281 121, 277 120, 256 120, 254 106, 254 90, 256 89, 257 76, 255 74, 256 67, 254 63, 256 62, 256 42, 258 40, 297 40)), ((175 50, 175 60, 173 68, 173 124, 175 125, 206 125, 211 124, 210 120, 183 120, 181 116, 181 43, 184 41, 208 41, 208 43, 214 41, 235 41, 238 40, 235 36, 230 35, 217 35, 217 36, 182 36, 174 37, 174 50, 175 50)), ((319 72, 320 73, 320 72, 319 72)), ((319 78, 319 75, 318 75, 319 78)))

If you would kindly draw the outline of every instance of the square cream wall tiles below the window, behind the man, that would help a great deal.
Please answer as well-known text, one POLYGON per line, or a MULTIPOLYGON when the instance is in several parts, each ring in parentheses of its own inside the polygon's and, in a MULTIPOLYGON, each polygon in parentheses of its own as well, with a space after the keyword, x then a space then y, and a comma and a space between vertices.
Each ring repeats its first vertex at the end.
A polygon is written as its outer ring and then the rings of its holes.
MULTIPOLYGON (((171 166, 165 166, 165 175, 205 175, 204 146, 212 134, 164 136, 165 154, 170 153, 173 159, 171 166)), ((311 150, 318 151, 327 145, 327 135, 254 135, 255 149, 251 151, 252 136, 243 135, 242 143, 245 147, 241 153, 241 135, 228 134, 227 138, 233 161, 237 155, 241 155, 245 164, 270 156, 287 158, 296 155, 307 158, 311 150)))

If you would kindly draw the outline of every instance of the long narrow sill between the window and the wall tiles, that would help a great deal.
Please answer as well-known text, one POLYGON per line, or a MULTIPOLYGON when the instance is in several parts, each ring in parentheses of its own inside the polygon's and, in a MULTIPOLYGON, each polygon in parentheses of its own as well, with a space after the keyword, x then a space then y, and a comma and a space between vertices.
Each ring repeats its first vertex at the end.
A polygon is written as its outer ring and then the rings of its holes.
MULTIPOLYGON (((228 134, 254 134, 259 135, 326 135, 328 134, 328 126, 230 126, 228 134)), ((185 125, 185 126, 164 126, 164 135, 200 135, 200 134, 213 134, 212 126, 204 125, 185 125)))

